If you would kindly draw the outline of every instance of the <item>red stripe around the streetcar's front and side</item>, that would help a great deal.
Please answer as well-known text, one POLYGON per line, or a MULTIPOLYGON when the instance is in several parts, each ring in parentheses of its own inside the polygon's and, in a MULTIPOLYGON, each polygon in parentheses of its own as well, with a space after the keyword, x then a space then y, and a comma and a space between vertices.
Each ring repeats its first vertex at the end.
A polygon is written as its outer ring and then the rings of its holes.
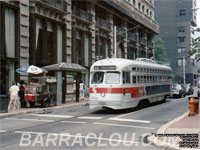
POLYGON ((144 87, 132 87, 132 88, 90 88, 90 93, 105 93, 105 94, 123 94, 130 93, 131 98, 137 98, 145 96, 144 87))

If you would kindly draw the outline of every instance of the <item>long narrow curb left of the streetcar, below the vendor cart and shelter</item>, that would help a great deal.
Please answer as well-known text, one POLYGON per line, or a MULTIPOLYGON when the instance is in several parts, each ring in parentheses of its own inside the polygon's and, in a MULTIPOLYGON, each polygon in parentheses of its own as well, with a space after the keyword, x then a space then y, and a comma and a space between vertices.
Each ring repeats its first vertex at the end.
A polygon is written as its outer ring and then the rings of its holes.
POLYGON ((69 107, 77 107, 77 106, 83 106, 89 103, 89 101, 86 102, 79 102, 79 103, 73 103, 73 104, 64 104, 60 106, 54 106, 54 107, 48 107, 48 108, 36 108, 33 110, 24 110, 21 112, 10 112, 10 113, 2 113, 0 114, 0 118, 6 118, 10 116, 15 116, 15 115, 21 115, 21 114, 28 114, 28 113, 39 113, 39 112, 44 112, 48 110, 54 110, 54 109, 59 109, 59 108, 69 108, 69 107))

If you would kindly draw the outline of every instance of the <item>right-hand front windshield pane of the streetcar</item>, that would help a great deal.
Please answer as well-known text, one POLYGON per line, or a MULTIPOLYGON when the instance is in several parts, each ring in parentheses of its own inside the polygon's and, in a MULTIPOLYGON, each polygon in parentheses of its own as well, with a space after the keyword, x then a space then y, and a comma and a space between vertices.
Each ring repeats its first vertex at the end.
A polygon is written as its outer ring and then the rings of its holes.
POLYGON ((106 73, 106 84, 119 84, 120 73, 119 72, 107 72, 106 73))

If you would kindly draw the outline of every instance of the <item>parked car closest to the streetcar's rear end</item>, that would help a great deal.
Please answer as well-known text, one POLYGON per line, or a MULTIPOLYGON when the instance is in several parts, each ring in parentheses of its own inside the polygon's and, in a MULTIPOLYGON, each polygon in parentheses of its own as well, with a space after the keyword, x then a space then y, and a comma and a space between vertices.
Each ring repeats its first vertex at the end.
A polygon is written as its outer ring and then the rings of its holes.
POLYGON ((186 96, 186 90, 185 87, 181 84, 174 84, 172 86, 172 94, 171 97, 185 97, 186 96))

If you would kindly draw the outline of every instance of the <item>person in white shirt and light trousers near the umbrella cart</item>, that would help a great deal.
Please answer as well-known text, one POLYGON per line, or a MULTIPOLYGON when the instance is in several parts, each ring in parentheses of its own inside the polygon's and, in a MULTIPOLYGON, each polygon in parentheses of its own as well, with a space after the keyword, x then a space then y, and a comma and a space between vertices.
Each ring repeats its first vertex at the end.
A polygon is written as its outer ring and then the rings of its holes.
POLYGON ((16 103, 18 101, 18 92, 19 92, 19 87, 16 85, 16 82, 13 81, 13 85, 9 89, 10 91, 10 102, 8 105, 8 109, 16 109, 16 103))

